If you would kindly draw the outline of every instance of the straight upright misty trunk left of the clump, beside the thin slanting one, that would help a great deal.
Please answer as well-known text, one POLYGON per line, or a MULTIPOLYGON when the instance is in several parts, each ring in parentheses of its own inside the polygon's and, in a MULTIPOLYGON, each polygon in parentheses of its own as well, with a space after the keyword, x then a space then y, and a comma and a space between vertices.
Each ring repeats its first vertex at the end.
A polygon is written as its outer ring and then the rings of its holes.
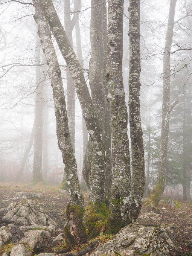
MULTIPOLYGON (((35 58, 36 64, 40 62, 41 43, 39 36, 37 35, 35 45, 35 58)), ((43 130, 43 84, 41 80, 41 67, 36 67, 36 95, 35 95, 35 134, 34 134, 34 165, 32 173, 32 182, 37 183, 43 181, 42 176, 42 130, 43 130)))

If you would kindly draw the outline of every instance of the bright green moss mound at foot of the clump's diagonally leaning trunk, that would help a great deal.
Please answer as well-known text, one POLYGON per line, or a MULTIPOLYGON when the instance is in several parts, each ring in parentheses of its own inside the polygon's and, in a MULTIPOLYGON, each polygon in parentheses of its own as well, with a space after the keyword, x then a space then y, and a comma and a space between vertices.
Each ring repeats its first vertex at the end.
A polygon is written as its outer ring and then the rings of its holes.
POLYGON ((104 203, 93 203, 90 202, 90 213, 87 218, 88 235, 90 238, 98 236, 104 231, 106 220, 108 217, 107 208, 104 203))

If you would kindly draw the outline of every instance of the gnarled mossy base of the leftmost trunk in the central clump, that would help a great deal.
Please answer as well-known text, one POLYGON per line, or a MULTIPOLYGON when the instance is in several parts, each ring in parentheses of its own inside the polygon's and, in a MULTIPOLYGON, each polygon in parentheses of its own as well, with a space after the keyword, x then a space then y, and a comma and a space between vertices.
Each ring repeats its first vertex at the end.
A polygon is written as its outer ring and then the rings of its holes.
POLYGON ((83 215, 84 210, 79 206, 72 206, 70 203, 67 204, 67 222, 64 227, 67 247, 84 244, 88 241, 88 236, 83 225, 83 215))

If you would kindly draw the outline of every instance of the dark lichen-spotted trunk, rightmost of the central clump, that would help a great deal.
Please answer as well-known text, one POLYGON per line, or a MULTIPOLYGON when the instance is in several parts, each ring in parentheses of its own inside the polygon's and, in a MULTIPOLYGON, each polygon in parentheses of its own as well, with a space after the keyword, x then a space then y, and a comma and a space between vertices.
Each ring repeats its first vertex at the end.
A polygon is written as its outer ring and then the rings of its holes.
POLYGON ((129 115, 132 151, 132 182, 131 182, 131 210, 130 217, 137 219, 143 198, 145 186, 145 160, 143 147, 143 132, 140 117, 140 0, 130 0, 129 6, 129 115))

